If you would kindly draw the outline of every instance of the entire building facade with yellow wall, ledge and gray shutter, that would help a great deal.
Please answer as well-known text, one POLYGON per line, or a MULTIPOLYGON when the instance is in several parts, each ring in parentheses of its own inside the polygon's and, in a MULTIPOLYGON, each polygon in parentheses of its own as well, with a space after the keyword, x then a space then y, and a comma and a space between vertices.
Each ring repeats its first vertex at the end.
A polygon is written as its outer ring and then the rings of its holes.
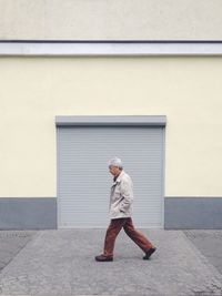
POLYGON ((220 1, 139 2, 0 2, 1 229, 105 227, 115 155, 139 227, 222 227, 220 1))

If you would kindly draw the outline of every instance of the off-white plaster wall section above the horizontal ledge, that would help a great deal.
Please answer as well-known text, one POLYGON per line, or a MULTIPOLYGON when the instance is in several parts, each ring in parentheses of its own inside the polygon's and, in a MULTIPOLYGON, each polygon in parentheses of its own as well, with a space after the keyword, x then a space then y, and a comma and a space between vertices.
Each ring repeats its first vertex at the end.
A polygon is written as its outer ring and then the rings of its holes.
POLYGON ((1 40, 222 40, 221 0, 0 0, 1 40))

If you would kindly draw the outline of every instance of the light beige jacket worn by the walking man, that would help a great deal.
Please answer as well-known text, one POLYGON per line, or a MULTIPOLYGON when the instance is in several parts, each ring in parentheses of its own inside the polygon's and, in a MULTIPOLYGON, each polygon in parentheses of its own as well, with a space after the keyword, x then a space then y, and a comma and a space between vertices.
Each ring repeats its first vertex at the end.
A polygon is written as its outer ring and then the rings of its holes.
POLYGON ((110 218, 124 218, 132 215, 133 184, 131 177, 122 171, 111 186, 110 218))

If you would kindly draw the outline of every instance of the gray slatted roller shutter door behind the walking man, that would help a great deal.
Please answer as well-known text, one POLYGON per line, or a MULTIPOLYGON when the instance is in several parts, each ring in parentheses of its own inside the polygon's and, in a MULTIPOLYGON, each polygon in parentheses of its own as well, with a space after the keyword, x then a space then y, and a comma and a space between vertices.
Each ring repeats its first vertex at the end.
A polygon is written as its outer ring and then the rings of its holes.
POLYGON ((119 156, 134 184, 137 227, 163 227, 162 126, 58 126, 58 225, 107 227, 112 176, 119 156))

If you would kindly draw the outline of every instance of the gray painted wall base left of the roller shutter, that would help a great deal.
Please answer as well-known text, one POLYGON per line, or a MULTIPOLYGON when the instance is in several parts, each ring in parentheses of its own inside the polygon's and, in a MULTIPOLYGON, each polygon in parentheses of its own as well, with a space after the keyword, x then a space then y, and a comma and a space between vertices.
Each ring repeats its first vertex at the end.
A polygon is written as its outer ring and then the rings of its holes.
POLYGON ((57 228, 57 198, 0 198, 0 229, 57 228))

